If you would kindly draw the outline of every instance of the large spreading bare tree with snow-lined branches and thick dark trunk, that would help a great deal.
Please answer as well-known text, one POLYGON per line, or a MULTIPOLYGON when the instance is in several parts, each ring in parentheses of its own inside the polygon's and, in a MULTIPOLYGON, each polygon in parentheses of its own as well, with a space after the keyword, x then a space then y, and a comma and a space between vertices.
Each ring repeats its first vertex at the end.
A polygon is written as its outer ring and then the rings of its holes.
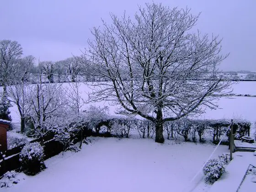
POLYGON ((159 143, 163 123, 216 109, 216 93, 230 85, 218 75, 227 55, 218 36, 192 30, 198 17, 155 3, 139 7, 134 19, 111 14, 112 24, 93 28, 85 49, 90 67, 108 80, 93 84, 91 100, 112 99, 149 119, 159 143))

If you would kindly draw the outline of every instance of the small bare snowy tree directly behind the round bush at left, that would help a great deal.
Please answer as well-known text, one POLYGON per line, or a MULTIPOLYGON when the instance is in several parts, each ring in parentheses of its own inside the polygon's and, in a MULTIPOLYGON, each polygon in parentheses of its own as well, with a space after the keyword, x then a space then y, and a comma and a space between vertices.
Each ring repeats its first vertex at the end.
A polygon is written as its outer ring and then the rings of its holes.
MULTIPOLYGON (((66 97, 62 85, 39 83, 30 88, 32 107, 30 117, 35 136, 42 138, 54 129, 56 119, 64 112, 66 97)), ((43 142, 43 140, 42 140, 43 142)))

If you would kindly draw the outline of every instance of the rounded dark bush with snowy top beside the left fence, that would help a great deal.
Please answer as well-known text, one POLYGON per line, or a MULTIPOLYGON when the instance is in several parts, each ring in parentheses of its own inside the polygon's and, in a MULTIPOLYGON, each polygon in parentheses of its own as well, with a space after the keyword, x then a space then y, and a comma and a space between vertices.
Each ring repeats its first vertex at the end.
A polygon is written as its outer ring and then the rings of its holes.
POLYGON ((26 144, 20 154, 22 170, 27 175, 37 174, 45 168, 43 158, 43 147, 38 142, 26 144))

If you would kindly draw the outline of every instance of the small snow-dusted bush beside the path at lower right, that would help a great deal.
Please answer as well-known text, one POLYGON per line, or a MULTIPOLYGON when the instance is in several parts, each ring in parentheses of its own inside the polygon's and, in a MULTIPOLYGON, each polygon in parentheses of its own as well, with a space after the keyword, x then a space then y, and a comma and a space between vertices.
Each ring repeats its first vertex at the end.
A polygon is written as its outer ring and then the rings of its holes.
POLYGON ((211 183, 217 181, 225 170, 225 160, 223 158, 211 159, 203 167, 206 181, 211 183))

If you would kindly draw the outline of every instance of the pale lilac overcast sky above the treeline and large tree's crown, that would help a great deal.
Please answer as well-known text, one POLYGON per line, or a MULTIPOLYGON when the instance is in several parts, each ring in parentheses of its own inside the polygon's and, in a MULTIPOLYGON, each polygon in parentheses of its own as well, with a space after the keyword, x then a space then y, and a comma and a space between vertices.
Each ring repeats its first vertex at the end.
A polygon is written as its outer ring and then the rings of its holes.
MULTIPOLYGON (((91 38, 90 28, 110 22, 109 13, 134 15, 151 0, 0 0, 0 39, 21 43, 25 55, 61 60, 80 54, 91 38)), ((201 13, 196 28, 223 37, 230 53, 223 70, 256 71, 256 0, 154 0, 201 13)))

